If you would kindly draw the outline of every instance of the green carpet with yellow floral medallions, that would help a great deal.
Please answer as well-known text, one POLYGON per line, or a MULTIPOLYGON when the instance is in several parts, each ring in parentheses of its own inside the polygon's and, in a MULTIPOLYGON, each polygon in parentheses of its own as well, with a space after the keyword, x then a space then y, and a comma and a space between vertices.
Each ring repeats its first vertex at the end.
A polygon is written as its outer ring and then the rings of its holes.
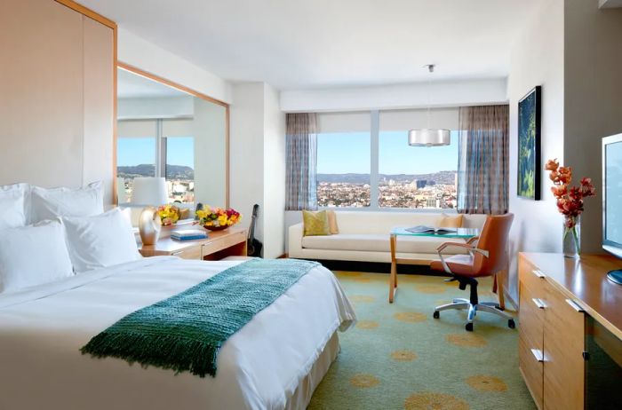
MULTIPOLYGON (((336 272, 359 322, 339 334, 341 352, 309 409, 535 409, 518 370, 518 330, 489 313, 466 332, 465 311, 435 305, 468 297, 457 282, 399 275, 388 304, 388 275, 336 272)), ((482 301, 495 300, 480 280, 482 301)), ((517 324, 517 326, 519 326, 517 324)))

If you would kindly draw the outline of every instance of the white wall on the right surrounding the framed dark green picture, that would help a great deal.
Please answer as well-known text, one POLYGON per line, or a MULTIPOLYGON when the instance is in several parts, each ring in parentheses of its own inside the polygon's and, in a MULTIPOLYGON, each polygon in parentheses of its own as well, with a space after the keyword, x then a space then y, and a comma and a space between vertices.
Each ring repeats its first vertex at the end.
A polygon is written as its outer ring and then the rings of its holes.
MULTIPOLYGON (((583 1, 583 0, 581 0, 583 1)), ((595 6, 594 6, 595 7, 595 6)), ((564 135, 564 21, 563 0, 546 0, 533 21, 523 30, 511 53, 508 96, 510 100, 510 212, 512 264, 509 292, 518 301, 516 253, 520 251, 557 252, 561 250, 562 217, 542 173, 542 201, 516 196, 518 146, 518 101, 534 86, 542 86, 542 160, 563 161, 564 135)), ((544 163, 543 163, 544 165, 544 163)))

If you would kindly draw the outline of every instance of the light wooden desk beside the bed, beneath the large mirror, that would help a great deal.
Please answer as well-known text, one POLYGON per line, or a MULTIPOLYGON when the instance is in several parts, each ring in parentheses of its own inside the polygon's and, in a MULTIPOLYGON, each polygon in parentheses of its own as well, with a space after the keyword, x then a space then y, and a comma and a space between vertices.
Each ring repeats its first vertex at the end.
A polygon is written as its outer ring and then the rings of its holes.
POLYGON ((179 256, 184 259, 219 260, 227 256, 246 256, 246 228, 231 227, 210 232, 204 240, 163 238, 156 245, 143 245, 142 256, 179 256))

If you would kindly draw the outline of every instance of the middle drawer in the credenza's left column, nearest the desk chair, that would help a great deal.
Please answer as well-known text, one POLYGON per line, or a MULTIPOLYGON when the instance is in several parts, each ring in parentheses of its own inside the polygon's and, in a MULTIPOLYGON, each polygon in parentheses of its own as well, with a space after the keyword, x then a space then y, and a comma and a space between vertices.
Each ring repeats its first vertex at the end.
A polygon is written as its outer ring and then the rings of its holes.
POLYGON ((531 348, 542 351, 546 302, 542 298, 535 297, 531 289, 521 282, 519 306, 518 322, 521 325, 518 327, 519 334, 531 348))

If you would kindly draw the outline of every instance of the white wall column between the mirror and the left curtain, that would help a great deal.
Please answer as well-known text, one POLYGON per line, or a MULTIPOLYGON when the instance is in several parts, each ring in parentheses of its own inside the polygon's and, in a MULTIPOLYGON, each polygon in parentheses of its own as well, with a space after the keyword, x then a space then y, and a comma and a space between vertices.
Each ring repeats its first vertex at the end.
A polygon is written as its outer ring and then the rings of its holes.
POLYGON ((267 83, 238 83, 231 105, 231 206, 251 223, 259 204, 255 236, 264 243, 263 256, 285 252, 285 114, 279 94, 267 83))

